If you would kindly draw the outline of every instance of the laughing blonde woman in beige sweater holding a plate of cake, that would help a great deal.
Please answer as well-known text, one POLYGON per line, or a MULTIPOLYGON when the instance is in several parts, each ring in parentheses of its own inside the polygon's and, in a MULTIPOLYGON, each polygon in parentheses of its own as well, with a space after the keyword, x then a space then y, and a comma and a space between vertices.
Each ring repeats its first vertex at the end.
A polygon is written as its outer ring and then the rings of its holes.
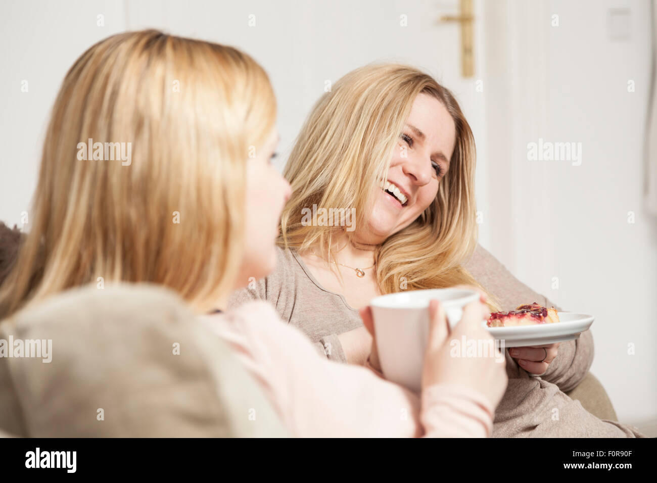
MULTIPOLYGON (((506 308, 549 304, 477 247, 474 171, 472 131, 448 89, 409 66, 353 70, 315 104, 290 154, 277 269, 231 304, 269 300, 320 354, 357 364, 372 354, 374 369, 367 304, 379 294, 469 285, 493 290, 506 308)), ((507 352, 495 436, 633 436, 556 385, 572 389, 592 359, 588 332, 507 352)))

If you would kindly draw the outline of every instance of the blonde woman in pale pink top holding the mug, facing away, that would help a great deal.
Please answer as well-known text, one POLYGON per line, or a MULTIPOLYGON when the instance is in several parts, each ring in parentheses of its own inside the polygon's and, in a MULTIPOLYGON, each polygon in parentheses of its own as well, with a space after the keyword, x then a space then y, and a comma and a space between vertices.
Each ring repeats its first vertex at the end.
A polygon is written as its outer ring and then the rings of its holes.
MULTIPOLYGON (((290 187, 269 162, 275 117, 267 75, 237 49, 152 30, 91 47, 55 102, 0 319, 97 277, 163 285, 235 348, 296 436, 489 436, 506 375, 495 357, 449 357, 439 304, 422 394, 327 361, 265 302, 214 313, 276 262, 290 187), (129 162, 85 156, 89 139, 129 143, 129 162)), ((486 313, 468 305, 453 334, 490 339, 486 313)), ((0 411, 0 430, 12 417, 0 411)))

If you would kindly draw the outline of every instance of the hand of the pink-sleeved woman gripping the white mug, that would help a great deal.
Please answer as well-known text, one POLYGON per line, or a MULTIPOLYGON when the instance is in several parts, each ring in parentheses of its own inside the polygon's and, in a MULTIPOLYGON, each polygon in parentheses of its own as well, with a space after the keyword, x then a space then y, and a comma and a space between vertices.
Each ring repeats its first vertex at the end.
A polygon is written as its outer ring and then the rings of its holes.
POLYGON ((482 325, 482 321, 489 315, 488 308, 481 301, 466 305, 461 321, 451 333, 442 304, 432 300, 429 310, 431 319, 422 388, 434 384, 466 386, 484 394, 491 405, 497 407, 507 388, 508 378, 505 359, 495 348, 493 336, 482 325), (472 357, 466 348, 461 348, 459 356, 452 356, 453 340, 457 344, 463 344, 463 340, 474 340, 477 342, 476 347, 492 350, 472 357), (480 341, 484 343, 480 344, 480 341))

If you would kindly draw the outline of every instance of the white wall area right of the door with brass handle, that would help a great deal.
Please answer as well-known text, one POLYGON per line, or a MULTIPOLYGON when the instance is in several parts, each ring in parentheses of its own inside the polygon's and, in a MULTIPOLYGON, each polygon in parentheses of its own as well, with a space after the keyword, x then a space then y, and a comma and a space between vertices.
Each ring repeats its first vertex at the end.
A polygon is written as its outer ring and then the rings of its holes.
POLYGON ((655 419, 657 218, 643 205, 650 5, 486 5, 489 248, 564 310, 596 316, 591 371, 622 421, 655 419), (629 38, 609 38, 612 8, 629 9, 629 38), (528 160, 539 138, 581 143, 581 165, 528 160))

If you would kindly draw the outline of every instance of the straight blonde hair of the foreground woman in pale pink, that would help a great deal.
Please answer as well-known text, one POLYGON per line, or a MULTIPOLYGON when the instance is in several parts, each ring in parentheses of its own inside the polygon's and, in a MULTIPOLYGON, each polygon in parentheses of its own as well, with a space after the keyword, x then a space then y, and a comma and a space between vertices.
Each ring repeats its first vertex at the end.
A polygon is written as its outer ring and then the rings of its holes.
POLYGON ((0 318, 99 277, 165 285, 210 307, 233 289, 245 160, 275 117, 267 74, 233 47, 155 30, 90 47, 53 107, 0 318), (78 160, 88 139, 131 143, 131 164, 78 160))

